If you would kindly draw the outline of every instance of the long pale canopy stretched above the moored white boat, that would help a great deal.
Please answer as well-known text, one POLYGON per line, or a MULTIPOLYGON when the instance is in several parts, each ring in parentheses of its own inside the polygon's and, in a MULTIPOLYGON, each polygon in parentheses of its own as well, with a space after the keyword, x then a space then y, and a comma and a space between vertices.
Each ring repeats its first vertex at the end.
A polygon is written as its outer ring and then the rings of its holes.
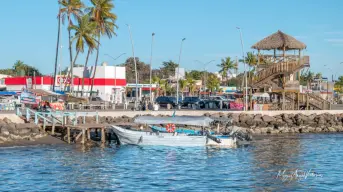
POLYGON ((159 124, 177 124, 177 125, 193 125, 193 126, 210 126, 213 119, 204 116, 176 116, 176 117, 154 117, 154 116, 139 116, 135 118, 137 124, 159 125, 159 124))

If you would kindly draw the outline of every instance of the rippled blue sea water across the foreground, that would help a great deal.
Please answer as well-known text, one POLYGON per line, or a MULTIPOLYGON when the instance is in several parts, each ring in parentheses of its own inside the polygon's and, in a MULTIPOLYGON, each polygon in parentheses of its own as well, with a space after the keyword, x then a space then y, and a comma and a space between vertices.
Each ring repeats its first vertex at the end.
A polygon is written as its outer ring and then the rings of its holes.
POLYGON ((0 148, 0 190, 343 191, 342 145, 342 134, 306 134, 237 149, 0 148))

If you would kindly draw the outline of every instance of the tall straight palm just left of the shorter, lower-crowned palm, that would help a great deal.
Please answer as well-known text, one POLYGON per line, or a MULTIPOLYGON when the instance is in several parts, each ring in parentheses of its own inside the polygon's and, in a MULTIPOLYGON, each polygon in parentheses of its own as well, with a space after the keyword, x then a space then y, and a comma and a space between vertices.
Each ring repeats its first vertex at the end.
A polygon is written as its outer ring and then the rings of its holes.
MULTIPOLYGON (((69 38, 69 58, 70 58, 70 71, 68 72, 68 76, 73 77, 73 54, 72 54, 72 39, 70 35, 71 26, 73 25, 71 17, 74 19, 79 19, 82 15, 82 8, 84 4, 81 0, 60 0, 59 4, 61 6, 59 17, 62 18, 62 23, 64 24, 64 20, 67 17, 68 19, 68 38, 69 38)), ((73 85, 73 80, 71 80, 73 85)))

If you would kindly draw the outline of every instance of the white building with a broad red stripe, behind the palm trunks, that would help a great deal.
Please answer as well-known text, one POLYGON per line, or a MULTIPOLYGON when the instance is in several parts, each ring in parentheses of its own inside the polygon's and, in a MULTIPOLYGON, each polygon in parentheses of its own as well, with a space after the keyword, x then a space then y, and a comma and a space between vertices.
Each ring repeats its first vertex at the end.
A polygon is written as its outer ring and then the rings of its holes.
MULTIPOLYGON (((82 92, 82 77, 84 67, 73 68, 74 73, 74 93, 76 96, 81 96, 82 92), (77 77, 75 77, 77 76, 77 77)), ((92 77, 94 67, 88 67, 85 72, 83 96, 89 96, 91 85, 93 86, 93 95, 98 95, 105 101, 114 101, 121 103, 124 96, 124 88, 126 86, 125 67, 114 67, 102 65, 98 66, 95 73, 94 82, 92 77)), ((5 78, 5 85, 9 91, 21 91, 27 88, 52 90, 53 78, 50 76, 44 77, 8 77, 5 78)), ((55 90, 70 90, 71 80, 65 76, 57 76, 55 81, 55 90)))

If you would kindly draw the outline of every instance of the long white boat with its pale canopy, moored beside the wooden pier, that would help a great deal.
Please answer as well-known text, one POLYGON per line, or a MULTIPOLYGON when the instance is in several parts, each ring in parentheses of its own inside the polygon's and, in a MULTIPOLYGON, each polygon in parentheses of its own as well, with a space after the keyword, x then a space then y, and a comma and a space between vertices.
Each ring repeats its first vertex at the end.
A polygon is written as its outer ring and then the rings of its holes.
MULTIPOLYGON (((213 120, 208 117, 149 117, 141 116, 135 119, 138 124, 183 124, 208 127, 213 120)), ((163 145, 163 146, 225 146, 236 147, 237 139, 231 136, 217 138, 212 135, 186 135, 178 133, 147 132, 124 129, 112 125, 121 145, 163 145)))

